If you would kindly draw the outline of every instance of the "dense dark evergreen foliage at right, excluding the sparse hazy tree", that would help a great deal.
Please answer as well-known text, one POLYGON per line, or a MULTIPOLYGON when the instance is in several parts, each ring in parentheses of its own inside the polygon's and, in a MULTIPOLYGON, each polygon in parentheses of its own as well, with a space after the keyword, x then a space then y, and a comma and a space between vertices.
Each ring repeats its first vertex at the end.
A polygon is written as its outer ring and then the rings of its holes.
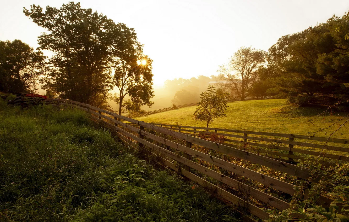
POLYGON ((320 104, 348 100, 348 24, 349 15, 345 13, 341 18, 333 16, 326 23, 282 36, 269 48, 267 68, 259 70, 259 79, 273 89, 266 92, 312 96, 311 103, 320 104))

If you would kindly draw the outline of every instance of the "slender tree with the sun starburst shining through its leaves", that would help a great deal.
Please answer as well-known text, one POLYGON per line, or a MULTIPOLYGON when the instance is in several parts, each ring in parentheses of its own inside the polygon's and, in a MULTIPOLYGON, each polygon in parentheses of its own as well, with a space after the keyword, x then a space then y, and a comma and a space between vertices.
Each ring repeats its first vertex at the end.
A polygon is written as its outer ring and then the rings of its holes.
POLYGON ((119 104, 119 115, 127 110, 129 113, 144 112, 141 107, 154 103, 150 99, 154 96, 152 60, 144 56, 139 45, 132 55, 116 61, 113 83, 118 88, 118 94, 113 101, 119 104), (128 100, 124 101, 128 97, 128 100))

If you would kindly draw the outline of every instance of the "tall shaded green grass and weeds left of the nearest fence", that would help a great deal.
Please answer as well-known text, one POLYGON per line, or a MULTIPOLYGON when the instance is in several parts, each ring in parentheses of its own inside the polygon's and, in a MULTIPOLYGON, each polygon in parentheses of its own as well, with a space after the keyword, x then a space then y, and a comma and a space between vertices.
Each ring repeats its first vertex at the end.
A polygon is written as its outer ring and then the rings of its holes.
POLYGON ((79 110, 0 101, 0 221, 233 221, 235 211, 154 169, 79 110))

